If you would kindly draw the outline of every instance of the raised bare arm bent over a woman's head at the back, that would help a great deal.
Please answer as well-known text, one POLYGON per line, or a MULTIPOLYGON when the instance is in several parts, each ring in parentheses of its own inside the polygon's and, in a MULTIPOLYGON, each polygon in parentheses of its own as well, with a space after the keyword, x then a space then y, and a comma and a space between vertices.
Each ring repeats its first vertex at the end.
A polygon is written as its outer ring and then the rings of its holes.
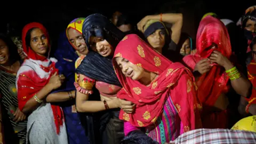
MULTIPOLYGON (((150 19, 161 19, 161 14, 158 15, 148 15, 148 20, 150 19)), ((175 44, 178 44, 180 41, 181 28, 183 25, 183 16, 182 13, 163 13, 162 21, 167 23, 172 23, 172 35, 171 39, 175 44)))

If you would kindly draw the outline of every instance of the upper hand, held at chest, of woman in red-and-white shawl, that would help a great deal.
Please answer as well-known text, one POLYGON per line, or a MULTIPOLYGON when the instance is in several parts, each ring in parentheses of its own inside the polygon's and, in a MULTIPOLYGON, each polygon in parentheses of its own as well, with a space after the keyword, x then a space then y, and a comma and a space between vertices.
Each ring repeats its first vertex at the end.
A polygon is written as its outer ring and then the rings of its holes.
POLYGON ((58 89, 61 84, 64 82, 65 80, 65 76, 64 75, 57 75, 57 73, 54 73, 51 78, 50 81, 48 83, 48 85, 50 85, 50 89, 58 89))

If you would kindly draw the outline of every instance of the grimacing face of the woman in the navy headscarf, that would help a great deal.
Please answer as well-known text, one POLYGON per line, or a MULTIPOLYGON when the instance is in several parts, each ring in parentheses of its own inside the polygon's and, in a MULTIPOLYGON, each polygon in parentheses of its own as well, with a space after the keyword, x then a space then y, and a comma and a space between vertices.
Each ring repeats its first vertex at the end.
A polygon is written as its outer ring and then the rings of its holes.
POLYGON ((89 44, 91 49, 98 52, 102 57, 108 57, 114 52, 113 47, 102 37, 91 36, 89 44))

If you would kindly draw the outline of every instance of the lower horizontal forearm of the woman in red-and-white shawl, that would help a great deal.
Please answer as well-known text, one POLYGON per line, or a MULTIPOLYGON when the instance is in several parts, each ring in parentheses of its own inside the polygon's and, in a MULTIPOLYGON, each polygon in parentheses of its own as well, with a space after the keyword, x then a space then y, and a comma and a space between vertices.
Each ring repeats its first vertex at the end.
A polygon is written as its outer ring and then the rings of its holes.
MULTIPOLYGON (((75 99, 75 92, 76 91, 70 91, 71 97, 75 99)), ((68 92, 57 92, 57 93, 51 93, 46 97, 46 102, 63 102, 70 100, 68 92)))

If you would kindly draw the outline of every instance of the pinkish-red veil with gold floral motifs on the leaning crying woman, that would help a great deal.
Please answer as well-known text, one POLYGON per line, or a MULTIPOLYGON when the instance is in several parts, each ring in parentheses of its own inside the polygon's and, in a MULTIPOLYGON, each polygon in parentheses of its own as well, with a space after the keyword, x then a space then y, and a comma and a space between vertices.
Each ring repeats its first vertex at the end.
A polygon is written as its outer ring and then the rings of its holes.
POLYGON ((125 36, 123 41, 117 45, 113 63, 117 77, 124 88, 117 93, 117 97, 136 104, 136 109, 132 114, 126 114, 121 109, 120 119, 124 119, 133 126, 138 127, 153 124, 157 117, 162 115, 165 100, 171 95, 173 103, 177 103, 181 107, 179 116, 182 124, 185 127, 189 126, 190 129, 195 129, 196 113, 194 113, 194 102, 196 102, 196 95, 190 93, 191 95, 187 95, 189 97, 179 97, 178 95, 170 94, 172 89, 180 89, 180 91, 186 91, 188 94, 191 89, 194 89, 192 87, 194 78, 190 70, 181 65, 181 63, 169 61, 134 34, 125 36), (139 81, 134 81, 130 77, 125 77, 115 61, 117 57, 125 58, 134 63, 134 65, 157 73, 158 77, 149 86, 143 85, 139 81), (183 75, 190 77, 188 82, 179 81, 179 78, 183 75), (176 87, 178 81, 179 84, 182 83, 182 87, 176 87), (189 84, 188 90, 187 84, 189 84), (193 114, 189 112, 191 110, 193 114))

